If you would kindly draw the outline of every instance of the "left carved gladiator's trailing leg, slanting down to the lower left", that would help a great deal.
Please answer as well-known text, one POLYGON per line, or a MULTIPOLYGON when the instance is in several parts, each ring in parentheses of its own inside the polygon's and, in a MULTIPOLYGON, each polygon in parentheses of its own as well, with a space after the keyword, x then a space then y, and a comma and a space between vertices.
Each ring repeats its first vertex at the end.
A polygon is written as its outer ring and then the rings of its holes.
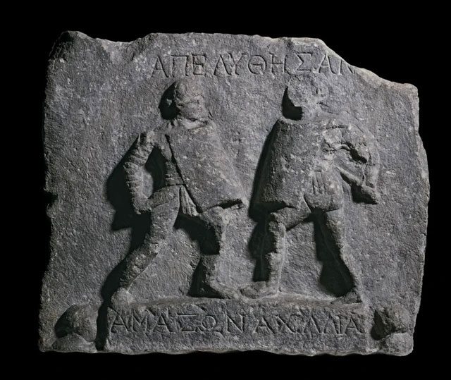
POLYGON ((163 202, 153 207, 149 213, 150 228, 142 245, 123 260, 119 287, 111 297, 111 303, 132 300, 128 293, 130 286, 166 245, 180 207, 178 188, 174 186, 160 190, 158 196, 163 202))

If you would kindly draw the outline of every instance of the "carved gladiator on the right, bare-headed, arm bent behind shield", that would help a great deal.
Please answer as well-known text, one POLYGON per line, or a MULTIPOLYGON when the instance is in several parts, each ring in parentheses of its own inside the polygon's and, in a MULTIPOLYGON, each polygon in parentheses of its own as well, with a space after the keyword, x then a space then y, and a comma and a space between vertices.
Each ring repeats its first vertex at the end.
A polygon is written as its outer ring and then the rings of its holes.
POLYGON ((376 140, 368 130, 323 111, 328 88, 319 76, 300 77, 285 90, 284 117, 274 125, 261 159, 252 207, 264 215, 259 255, 266 275, 242 288, 250 298, 278 293, 286 235, 313 220, 316 245, 327 250, 349 282, 334 302, 362 302, 359 266, 345 237, 343 181, 356 202, 378 202, 376 140))

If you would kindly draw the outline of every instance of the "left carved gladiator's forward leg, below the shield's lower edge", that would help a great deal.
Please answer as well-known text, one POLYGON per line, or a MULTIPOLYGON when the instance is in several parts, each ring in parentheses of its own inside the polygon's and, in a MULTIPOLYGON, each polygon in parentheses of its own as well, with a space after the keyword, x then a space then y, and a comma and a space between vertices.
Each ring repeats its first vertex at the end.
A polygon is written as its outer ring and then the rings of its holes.
POLYGON ((229 223, 228 210, 222 207, 213 207, 203 212, 200 219, 206 228, 211 231, 211 252, 205 252, 200 259, 199 272, 202 278, 199 281, 197 295, 214 298, 239 298, 240 293, 218 282, 218 264, 226 238, 226 229, 229 223))

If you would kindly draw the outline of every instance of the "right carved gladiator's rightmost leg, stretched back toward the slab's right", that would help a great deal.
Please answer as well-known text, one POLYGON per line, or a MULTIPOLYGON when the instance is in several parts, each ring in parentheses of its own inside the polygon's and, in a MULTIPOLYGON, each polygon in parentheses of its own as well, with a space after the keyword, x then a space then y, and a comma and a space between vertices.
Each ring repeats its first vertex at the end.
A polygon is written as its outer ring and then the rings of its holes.
POLYGON ((327 250, 337 262, 344 264, 346 273, 342 266, 338 265, 344 278, 350 276, 352 283, 350 291, 338 298, 338 302, 362 302, 362 284, 360 281, 357 262, 350 255, 350 248, 345 240, 345 224, 343 209, 336 209, 328 212, 321 212, 319 216, 319 226, 323 235, 324 244, 327 250))

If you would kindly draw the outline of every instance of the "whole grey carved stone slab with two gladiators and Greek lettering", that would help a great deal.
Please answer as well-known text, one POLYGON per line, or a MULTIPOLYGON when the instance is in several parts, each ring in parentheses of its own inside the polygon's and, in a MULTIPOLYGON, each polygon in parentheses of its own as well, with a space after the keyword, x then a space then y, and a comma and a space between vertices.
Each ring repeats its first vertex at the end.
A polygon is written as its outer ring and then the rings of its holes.
POLYGON ((42 350, 412 351, 414 86, 319 39, 66 32, 44 117, 42 350))

